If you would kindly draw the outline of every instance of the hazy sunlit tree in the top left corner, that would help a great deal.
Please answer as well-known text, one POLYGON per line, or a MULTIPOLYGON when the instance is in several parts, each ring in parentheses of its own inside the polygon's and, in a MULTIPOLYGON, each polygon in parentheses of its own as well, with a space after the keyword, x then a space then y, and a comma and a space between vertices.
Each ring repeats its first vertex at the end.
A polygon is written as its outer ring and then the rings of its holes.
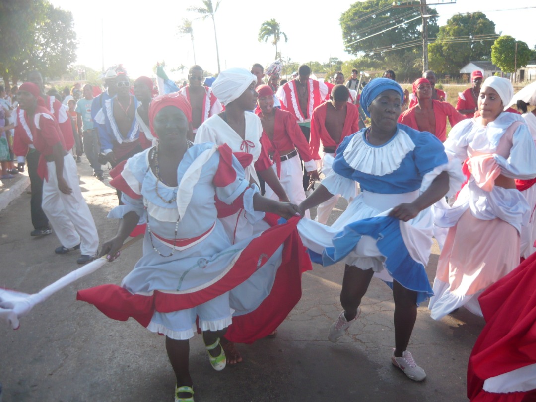
POLYGON ((16 82, 32 70, 59 77, 76 59, 72 14, 46 0, 0 2, 0 75, 16 82))

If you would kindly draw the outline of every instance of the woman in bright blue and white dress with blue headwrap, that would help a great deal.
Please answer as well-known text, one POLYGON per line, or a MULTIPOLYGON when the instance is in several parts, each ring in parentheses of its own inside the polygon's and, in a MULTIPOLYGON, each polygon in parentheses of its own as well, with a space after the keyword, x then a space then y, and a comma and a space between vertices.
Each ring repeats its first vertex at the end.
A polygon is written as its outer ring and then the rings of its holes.
POLYGON ((336 342, 358 319, 361 298, 376 273, 393 289, 391 361, 411 379, 422 381, 425 371, 407 346, 416 308, 432 294, 425 272, 433 236, 430 206, 449 191, 450 174, 437 138, 397 124, 403 99, 404 91, 390 79, 374 79, 364 88, 361 105, 371 126, 344 139, 333 172, 300 204, 300 210, 333 194, 355 197, 355 182, 362 192, 331 227, 302 219, 298 229, 315 262, 346 263, 340 295, 344 311, 331 325, 328 339, 336 342))

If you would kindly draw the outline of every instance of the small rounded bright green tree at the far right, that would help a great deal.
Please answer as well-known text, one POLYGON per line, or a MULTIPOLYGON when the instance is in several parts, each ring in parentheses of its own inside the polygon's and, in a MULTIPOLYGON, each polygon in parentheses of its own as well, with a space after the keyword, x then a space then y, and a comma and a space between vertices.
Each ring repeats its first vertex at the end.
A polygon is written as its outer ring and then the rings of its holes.
POLYGON ((519 67, 527 65, 530 57, 531 49, 527 44, 516 41, 509 35, 500 36, 492 45, 492 62, 503 72, 515 72, 519 67))

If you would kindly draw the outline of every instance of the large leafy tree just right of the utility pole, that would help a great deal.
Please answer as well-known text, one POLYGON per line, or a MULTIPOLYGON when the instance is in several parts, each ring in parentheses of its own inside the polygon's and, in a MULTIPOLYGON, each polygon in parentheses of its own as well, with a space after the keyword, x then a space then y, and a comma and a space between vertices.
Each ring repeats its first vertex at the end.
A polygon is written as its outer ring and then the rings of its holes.
POLYGON ((460 68, 471 61, 489 61, 490 40, 495 39, 495 24, 485 14, 456 14, 439 28, 436 41, 428 45, 430 69, 459 75, 460 68))

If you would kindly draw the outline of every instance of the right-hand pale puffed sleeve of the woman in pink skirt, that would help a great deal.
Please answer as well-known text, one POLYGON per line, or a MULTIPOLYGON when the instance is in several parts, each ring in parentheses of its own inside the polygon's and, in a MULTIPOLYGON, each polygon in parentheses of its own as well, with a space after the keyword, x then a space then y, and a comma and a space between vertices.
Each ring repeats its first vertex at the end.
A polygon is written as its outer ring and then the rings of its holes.
POLYGON ((519 124, 512 135, 512 147, 508 159, 494 154, 501 167, 501 174, 511 178, 529 180, 536 176, 536 148, 526 124, 519 124))

